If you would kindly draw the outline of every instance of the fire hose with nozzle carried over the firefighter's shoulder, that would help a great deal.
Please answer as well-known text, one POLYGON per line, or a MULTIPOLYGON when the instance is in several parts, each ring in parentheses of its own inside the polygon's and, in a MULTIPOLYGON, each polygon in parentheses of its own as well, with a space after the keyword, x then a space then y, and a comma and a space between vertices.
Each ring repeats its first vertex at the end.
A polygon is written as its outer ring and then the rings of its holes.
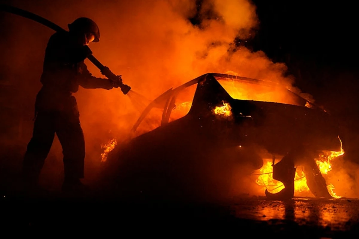
MULTIPOLYGON (((25 11, 19 8, 15 8, 13 6, 9 6, 9 5, 4 5, 4 4, 0 4, 0 10, 1 11, 5 11, 7 13, 12 13, 15 15, 19 15, 22 16, 24 18, 28 18, 31 19, 33 21, 36 21, 38 23, 41 23, 42 25, 45 25, 48 28, 51 28, 52 30, 54 30, 55 32, 66 32, 65 29, 61 28, 59 25, 56 25, 55 23, 41 17, 38 16, 36 14, 33 14, 29 11, 25 11)), ((88 47, 88 46, 85 46, 88 47)), ((122 81, 120 81, 119 77, 116 76, 114 73, 112 73, 112 71, 108 70, 108 68, 106 66, 104 66, 101 62, 98 61, 98 59, 96 59, 92 54, 90 56, 87 57, 90 62, 92 62, 97 68, 99 68, 99 70, 101 71, 101 73, 106 76, 110 81, 112 81, 112 83, 114 83, 115 87, 120 87, 121 91, 123 92, 123 94, 127 94, 130 90, 131 87, 128 85, 125 85, 122 83, 122 81), (105 70, 107 68, 107 70, 105 70)))

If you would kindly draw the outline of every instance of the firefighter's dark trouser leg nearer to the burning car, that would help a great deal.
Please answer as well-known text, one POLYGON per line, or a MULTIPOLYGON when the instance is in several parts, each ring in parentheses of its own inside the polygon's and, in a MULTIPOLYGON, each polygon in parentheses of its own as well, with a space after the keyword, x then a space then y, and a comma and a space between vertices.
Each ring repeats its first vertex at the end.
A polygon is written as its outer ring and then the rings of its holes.
POLYGON ((84 177, 85 140, 79 116, 60 115, 57 119, 56 134, 64 154, 65 183, 79 183, 84 177))

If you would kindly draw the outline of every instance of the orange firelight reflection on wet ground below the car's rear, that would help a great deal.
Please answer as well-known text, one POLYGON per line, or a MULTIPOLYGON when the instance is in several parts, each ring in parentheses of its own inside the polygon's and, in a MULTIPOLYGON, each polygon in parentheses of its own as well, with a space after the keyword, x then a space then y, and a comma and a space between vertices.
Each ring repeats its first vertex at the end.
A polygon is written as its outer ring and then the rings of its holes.
POLYGON ((261 221, 294 221, 299 225, 343 230, 358 221, 359 200, 248 200, 234 206, 236 217, 261 221))

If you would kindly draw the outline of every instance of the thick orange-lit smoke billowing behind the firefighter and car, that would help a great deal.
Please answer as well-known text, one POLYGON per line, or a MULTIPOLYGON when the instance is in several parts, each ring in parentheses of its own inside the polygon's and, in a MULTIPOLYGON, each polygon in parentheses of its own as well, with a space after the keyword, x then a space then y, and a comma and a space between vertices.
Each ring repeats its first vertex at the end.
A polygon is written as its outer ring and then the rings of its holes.
MULTIPOLYGON (((150 100, 208 72, 235 72, 292 88, 293 78, 285 76, 284 64, 273 63, 264 52, 251 52, 240 44, 253 37, 259 24, 256 7, 248 0, 7 2, 65 29, 78 17, 92 18, 101 32, 100 42, 90 45, 94 56, 150 100)), ((6 76, 12 85, 19 86, 22 101, 33 107, 52 31, 10 14, 3 19, 8 27, 1 51, 7 63, 5 67, 1 65, 1 71, 7 69, 6 76)), ((101 76, 97 68, 86 63, 93 75, 101 76)), ((85 176, 95 180, 101 161, 100 145, 111 138, 126 137, 139 111, 119 89, 80 89, 75 96, 86 140, 85 176)), ((31 121, 30 115, 25 118, 31 121)), ((28 125, 23 147, 31 137, 31 124, 28 125)), ((62 157, 58 142, 51 155, 55 159, 47 161, 44 174, 56 171, 59 175, 57 167, 62 167, 62 157)))

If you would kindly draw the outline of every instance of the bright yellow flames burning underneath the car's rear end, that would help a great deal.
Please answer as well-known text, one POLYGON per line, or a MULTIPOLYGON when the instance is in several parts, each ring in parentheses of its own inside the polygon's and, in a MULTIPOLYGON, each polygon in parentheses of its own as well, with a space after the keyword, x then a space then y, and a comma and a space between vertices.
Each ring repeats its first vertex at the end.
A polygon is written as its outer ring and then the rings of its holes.
MULTIPOLYGON (((339 136, 338 136, 339 138, 339 136)), ((328 172, 332 170, 332 164, 331 161, 339 156, 342 156, 344 154, 344 150, 342 148, 342 142, 340 140, 340 151, 323 151, 319 158, 316 158, 315 161, 320 169, 320 172, 322 175, 327 175, 328 172)), ((271 193, 276 193, 281 191, 284 188, 283 183, 280 181, 273 179, 273 167, 272 162, 267 161, 264 163, 263 167, 260 169, 259 176, 256 180, 257 185, 264 186, 267 188, 268 191, 271 193)), ((309 187, 307 186, 307 179, 304 175, 304 172, 302 169, 297 168, 295 172, 295 178, 294 178, 294 193, 309 193, 309 187)), ((331 183, 327 185, 328 192, 330 195, 334 198, 340 198, 340 196, 337 196, 334 192, 334 185, 331 183)), ((304 195, 303 195, 304 196, 304 195)))

